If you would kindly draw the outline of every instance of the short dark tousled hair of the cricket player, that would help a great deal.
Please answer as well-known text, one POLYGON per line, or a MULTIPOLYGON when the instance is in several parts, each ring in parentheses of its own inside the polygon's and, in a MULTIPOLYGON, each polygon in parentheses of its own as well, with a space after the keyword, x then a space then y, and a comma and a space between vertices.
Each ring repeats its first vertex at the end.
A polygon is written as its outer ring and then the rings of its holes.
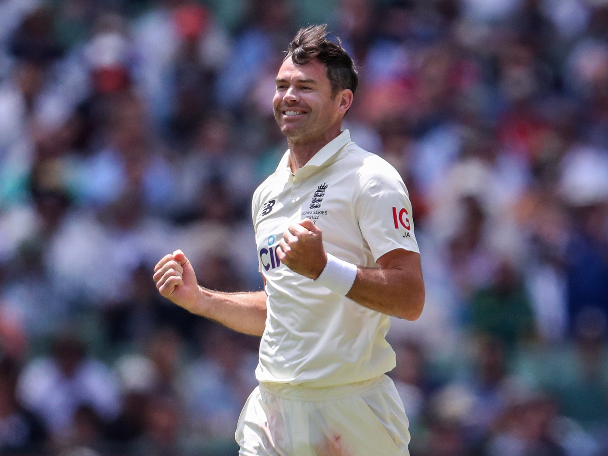
POLYGON ((325 64, 325 72, 334 95, 340 90, 350 89, 354 93, 357 89, 359 75, 353 59, 344 50, 339 38, 337 43, 328 40, 326 24, 300 29, 289 43, 284 60, 289 57, 298 65, 314 59, 325 64))

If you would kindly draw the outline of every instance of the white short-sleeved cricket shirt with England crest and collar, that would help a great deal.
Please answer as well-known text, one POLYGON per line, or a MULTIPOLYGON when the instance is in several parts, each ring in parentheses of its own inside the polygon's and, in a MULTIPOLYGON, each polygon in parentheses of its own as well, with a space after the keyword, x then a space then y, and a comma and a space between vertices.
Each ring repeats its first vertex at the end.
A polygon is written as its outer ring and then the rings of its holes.
POLYGON ((345 130, 295 174, 286 151, 255 190, 252 217, 268 293, 258 381, 327 387, 392 370, 389 317, 295 273, 275 252, 289 224, 307 217, 321 229, 325 251, 350 263, 378 268, 391 250, 418 252, 412 205, 395 168, 345 130))

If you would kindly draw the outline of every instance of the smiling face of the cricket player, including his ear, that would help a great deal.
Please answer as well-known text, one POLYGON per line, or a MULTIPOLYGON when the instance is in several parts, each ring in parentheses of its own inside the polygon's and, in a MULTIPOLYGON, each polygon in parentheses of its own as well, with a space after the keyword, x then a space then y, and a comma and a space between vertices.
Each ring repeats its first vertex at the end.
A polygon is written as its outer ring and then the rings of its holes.
POLYGON ((278 71, 277 92, 272 100, 278 126, 292 143, 337 136, 352 101, 353 92, 348 89, 332 94, 323 63, 311 60, 297 65, 291 57, 278 71))

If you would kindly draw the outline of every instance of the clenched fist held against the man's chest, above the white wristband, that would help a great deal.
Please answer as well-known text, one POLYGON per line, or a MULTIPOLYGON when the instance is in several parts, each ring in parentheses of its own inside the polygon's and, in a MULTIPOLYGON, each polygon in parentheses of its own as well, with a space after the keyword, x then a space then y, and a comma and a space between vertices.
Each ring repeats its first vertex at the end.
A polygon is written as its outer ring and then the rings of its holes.
POLYGON ((278 243, 277 257, 292 271, 316 280, 327 264, 321 230, 309 218, 292 223, 278 243))

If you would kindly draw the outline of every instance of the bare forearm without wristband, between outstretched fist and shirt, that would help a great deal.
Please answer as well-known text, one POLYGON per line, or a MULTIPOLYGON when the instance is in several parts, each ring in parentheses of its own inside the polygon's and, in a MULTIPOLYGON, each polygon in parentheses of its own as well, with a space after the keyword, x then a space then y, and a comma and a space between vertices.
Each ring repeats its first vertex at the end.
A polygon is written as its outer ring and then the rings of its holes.
POLYGON ((224 293, 199 286, 200 294, 192 313, 215 320, 239 333, 261 336, 266 325, 264 291, 224 293))

